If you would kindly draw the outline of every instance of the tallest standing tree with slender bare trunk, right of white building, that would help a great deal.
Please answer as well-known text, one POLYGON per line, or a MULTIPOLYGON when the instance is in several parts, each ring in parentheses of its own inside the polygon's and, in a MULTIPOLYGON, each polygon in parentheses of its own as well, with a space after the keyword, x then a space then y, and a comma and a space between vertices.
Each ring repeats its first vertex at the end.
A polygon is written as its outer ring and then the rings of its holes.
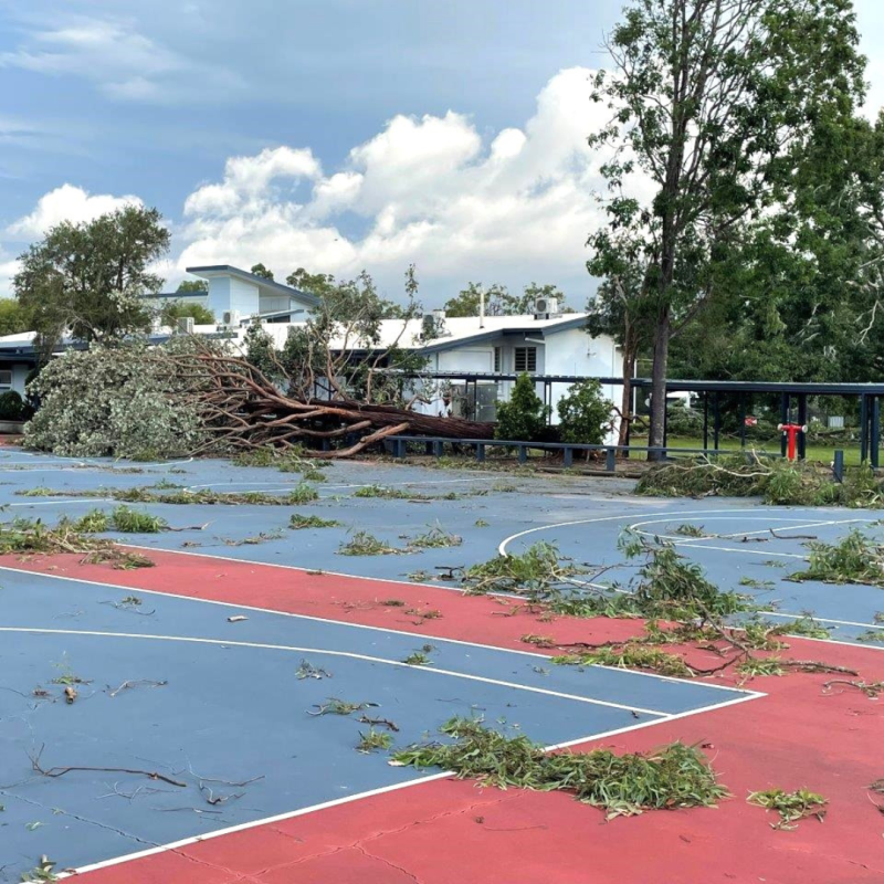
POLYGON ((719 257, 788 193, 794 154, 821 115, 851 113, 864 60, 851 0, 633 0, 592 98, 611 122, 603 167, 612 230, 646 242, 653 301, 650 444, 661 445, 670 339, 709 303, 719 257), (630 176, 653 185, 644 206, 630 176))

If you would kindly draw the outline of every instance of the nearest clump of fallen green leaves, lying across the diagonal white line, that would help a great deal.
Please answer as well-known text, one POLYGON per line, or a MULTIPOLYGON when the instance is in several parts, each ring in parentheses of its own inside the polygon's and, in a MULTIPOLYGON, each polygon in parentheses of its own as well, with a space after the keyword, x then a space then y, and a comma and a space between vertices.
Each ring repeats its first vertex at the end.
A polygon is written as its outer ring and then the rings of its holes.
POLYGON ((682 743, 648 754, 615 755, 609 749, 547 754, 526 736, 505 737, 476 719, 452 718, 440 730, 453 743, 409 746, 393 759, 452 770, 461 779, 501 789, 568 791, 578 801, 603 809, 609 818, 714 807, 728 794, 703 754, 682 743))

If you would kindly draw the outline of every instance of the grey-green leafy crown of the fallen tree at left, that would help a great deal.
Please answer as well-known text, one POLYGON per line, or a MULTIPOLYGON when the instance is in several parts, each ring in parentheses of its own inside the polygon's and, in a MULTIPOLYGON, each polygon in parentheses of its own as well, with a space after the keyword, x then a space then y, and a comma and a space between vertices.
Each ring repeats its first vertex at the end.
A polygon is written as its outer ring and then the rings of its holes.
POLYGON ((171 394, 175 383, 139 346, 69 351, 28 388, 41 406, 24 443, 69 457, 187 453, 203 433, 197 410, 171 394))

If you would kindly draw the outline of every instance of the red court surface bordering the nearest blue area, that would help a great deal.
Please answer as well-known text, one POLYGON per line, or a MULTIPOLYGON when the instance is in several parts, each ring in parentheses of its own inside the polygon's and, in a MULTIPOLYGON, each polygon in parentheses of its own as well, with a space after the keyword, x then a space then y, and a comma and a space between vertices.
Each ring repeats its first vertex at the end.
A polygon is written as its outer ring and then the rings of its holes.
MULTIPOLYGON (((640 621, 557 618, 538 623, 499 599, 436 587, 308 575, 291 568, 151 550, 156 568, 114 571, 76 557, 9 566, 127 588, 234 602, 439 638, 526 650, 525 633, 603 641, 640 621), (434 609, 422 620, 381 600, 434 609)), ((838 591, 836 587, 832 588, 838 591)), ((872 648, 789 640, 783 656, 884 678, 872 648)), ((532 649, 533 650, 533 649, 532 649)), ((681 739, 703 746, 733 797, 718 809, 648 812, 604 822, 567 794, 478 789, 435 779, 302 815, 203 838, 81 877, 90 884, 851 884, 884 881, 884 799, 866 787, 884 777, 876 702, 854 690, 823 691, 832 675, 756 678, 750 703, 687 715, 577 748, 649 749, 681 739), (823 823, 775 831, 746 802, 750 791, 808 788, 829 799, 823 823)), ((730 676, 718 681, 733 684, 730 676)))

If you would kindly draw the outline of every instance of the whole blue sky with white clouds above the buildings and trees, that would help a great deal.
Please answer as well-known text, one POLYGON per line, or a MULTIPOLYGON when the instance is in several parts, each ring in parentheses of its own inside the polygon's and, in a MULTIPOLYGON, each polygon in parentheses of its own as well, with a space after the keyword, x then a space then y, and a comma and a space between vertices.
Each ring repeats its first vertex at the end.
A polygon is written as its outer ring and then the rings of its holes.
MULTIPOLYGON (((171 227, 170 283, 264 261, 394 295, 413 261, 425 301, 536 278, 579 306, 586 69, 621 6, 0 0, 0 276, 48 224, 137 199, 171 227)), ((857 9, 874 80, 884 12, 857 9)))

